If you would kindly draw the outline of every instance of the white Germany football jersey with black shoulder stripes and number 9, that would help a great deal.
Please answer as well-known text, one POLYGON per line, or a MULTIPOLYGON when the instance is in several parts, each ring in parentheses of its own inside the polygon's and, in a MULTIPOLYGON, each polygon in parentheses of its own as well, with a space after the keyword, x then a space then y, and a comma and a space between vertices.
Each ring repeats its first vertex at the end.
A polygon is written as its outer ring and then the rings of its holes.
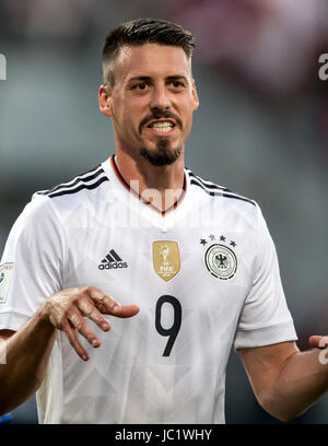
POLYGON ((296 340, 274 245, 256 202, 185 169, 157 212, 114 157, 37 192, 0 267, 0 329, 19 330, 62 289, 93 285, 128 319, 105 316, 83 362, 58 331, 37 391, 40 423, 224 423, 231 348, 296 340))

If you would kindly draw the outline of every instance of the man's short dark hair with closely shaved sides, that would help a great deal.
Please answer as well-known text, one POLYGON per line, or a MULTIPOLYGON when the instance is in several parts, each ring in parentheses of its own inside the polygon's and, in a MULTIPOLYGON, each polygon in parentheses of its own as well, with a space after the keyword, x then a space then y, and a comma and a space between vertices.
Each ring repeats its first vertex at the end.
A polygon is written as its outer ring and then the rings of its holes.
POLYGON ((163 19, 137 19, 122 23, 106 37, 103 48, 103 82, 114 85, 113 62, 124 46, 159 44, 177 46, 191 59, 194 35, 180 25, 163 19))

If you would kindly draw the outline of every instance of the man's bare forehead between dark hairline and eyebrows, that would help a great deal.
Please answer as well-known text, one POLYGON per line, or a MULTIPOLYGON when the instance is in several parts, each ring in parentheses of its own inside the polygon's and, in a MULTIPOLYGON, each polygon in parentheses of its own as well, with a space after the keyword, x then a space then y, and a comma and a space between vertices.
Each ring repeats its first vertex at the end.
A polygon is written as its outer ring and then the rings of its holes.
POLYGON ((115 77, 121 81, 137 77, 189 77, 191 62, 180 47, 157 44, 125 46, 116 58, 115 71, 115 77))

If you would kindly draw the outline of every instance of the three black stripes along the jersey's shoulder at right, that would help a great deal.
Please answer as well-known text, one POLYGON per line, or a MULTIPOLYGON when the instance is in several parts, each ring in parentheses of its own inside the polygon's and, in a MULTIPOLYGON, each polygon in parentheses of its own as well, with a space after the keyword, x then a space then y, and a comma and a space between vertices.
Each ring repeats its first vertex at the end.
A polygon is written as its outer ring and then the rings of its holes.
POLYGON ((220 186, 212 181, 203 179, 200 176, 196 175, 189 168, 186 168, 186 174, 189 177, 190 187, 195 191, 197 190, 198 192, 202 193, 204 197, 208 196, 212 198, 213 200, 221 199, 219 200, 220 202, 222 202, 222 199, 223 199, 223 201, 227 206, 229 204, 239 206, 239 207, 242 206, 244 208, 244 204, 245 204, 246 207, 250 206, 254 210, 258 209, 257 202, 250 198, 236 193, 233 190, 224 186, 220 186))

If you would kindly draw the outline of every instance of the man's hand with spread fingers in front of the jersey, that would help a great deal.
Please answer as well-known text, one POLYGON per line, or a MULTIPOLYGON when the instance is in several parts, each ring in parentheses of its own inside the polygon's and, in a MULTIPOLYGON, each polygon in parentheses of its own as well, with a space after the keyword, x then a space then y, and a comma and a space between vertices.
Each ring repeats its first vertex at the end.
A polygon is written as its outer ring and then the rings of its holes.
POLYGON ((94 348, 101 345, 84 317, 93 320, 103 331, 108 331, 110 325, 102 315, 131 317, 139 313, 137 305, 121 306, 114 298, 94 286, 62 290, 49 297, 40 308, 40 317, 51 322, 54 327, 66 332, 71 345, 79 356, 87 361, 89 354, 79 340, 82 334, 94 348))

